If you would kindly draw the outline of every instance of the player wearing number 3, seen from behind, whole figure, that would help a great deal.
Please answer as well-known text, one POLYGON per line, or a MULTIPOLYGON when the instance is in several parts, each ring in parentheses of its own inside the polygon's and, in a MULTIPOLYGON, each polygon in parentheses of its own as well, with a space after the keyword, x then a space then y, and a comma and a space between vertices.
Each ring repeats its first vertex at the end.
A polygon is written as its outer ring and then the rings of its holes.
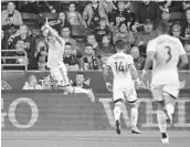
POLYGON ((172 124, 175 104, 179 94, 178 62, 181 67, 188 63, 184 49, 179 39, 168 35, 169 25, 160 22, 159 36, 149 41, 147 59, 141 78, 152 63, 151 93, 157 104, 157 120, 161 132, 161 141, 169 143, 167 122, 172 124))

